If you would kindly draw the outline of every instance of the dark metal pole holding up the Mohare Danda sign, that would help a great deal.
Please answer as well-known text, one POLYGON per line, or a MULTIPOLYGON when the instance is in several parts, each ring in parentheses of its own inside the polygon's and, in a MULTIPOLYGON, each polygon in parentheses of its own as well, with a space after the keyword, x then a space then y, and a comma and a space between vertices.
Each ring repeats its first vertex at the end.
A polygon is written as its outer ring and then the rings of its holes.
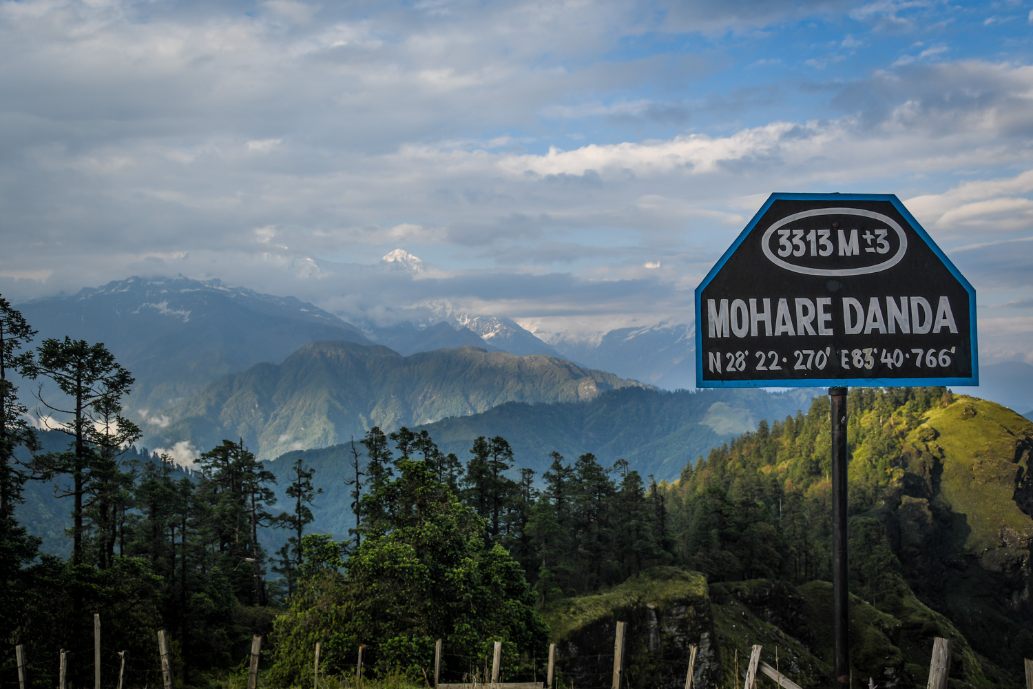
POLYGON ((850 681, 847 636, 846 387, 829 387, 833 459, 833 670, 836 689, 850 681))

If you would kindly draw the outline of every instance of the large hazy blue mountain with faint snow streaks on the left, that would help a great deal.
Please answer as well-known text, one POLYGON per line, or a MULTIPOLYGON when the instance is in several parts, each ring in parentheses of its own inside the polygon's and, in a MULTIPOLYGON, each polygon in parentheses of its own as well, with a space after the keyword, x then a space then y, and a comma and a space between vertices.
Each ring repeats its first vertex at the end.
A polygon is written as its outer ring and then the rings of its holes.
POLYGON ((358 328, 292 296, 218 280, 129 278, 18 305, 44 338, 102 342, 136 378, 129 405, 146 416, 219 376, 281 362, 315 340, 374 344, 358 328))

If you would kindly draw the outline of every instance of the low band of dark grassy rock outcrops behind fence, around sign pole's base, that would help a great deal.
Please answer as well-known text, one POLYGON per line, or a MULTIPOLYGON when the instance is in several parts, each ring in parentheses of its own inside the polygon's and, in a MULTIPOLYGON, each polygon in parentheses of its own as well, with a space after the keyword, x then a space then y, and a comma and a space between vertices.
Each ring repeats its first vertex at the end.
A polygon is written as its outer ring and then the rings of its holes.
MULTIPOLYGON (((944 636, 953 644, 951 682, 992 687, 1011 681, 900 577, 885 583, 878 603, 850 596, 855 678, 872 678, 884 689, 918 686, 929 671, 933 638, 944 636)), ((708 586, 698 572, 656 567, 606 593, 553 602, 544 615, 565 686, 609 686, 617 623, 624 622, 628 689, 682 689, 692 645, 698 647, 695 686, 742 686, 750 649, 759 645, 764 662, 800 686, 816 687, 832 676, 832 607, 828 582, 708 586)))

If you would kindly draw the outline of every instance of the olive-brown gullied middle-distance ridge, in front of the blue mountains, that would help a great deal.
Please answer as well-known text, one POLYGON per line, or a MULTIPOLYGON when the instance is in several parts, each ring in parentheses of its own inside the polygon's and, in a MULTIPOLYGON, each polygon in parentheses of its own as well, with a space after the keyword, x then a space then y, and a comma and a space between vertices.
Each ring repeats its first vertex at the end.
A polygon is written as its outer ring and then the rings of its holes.
MULTIPOLYGON (((283 364, 227 375, 145 427, 148 443, 208 448, 243 438, 261 459, 486 411, 506 402, 591 400, 640 383, 542 354, 467 346, 410 356, 345 341, 308 344, 283 364)), ((202 451, 202 449, 200 450, 202 451)))

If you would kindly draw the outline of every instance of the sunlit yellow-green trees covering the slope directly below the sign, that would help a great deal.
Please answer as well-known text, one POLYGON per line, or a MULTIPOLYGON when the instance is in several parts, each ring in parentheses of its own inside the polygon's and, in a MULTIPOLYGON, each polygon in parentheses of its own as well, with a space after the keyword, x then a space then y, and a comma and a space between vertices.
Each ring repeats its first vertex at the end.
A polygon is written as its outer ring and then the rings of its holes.
MULTIPOLYGON (((902 446, 933 406, 949 404, 943 387, 850 389, 847 398, 848 510, 878 506, 904 474, 902 446)), ((746 433, 686 464, 669 491, 681 561, 712 582, 780 578, 793 584, 832 577, 831 446, 827 397, 805 415, 746 433)), ((851 591, 868 597, 894 571, 880 528, 851 523, 851 591), (873 540, 874 539, 874 540, 873 540)))

